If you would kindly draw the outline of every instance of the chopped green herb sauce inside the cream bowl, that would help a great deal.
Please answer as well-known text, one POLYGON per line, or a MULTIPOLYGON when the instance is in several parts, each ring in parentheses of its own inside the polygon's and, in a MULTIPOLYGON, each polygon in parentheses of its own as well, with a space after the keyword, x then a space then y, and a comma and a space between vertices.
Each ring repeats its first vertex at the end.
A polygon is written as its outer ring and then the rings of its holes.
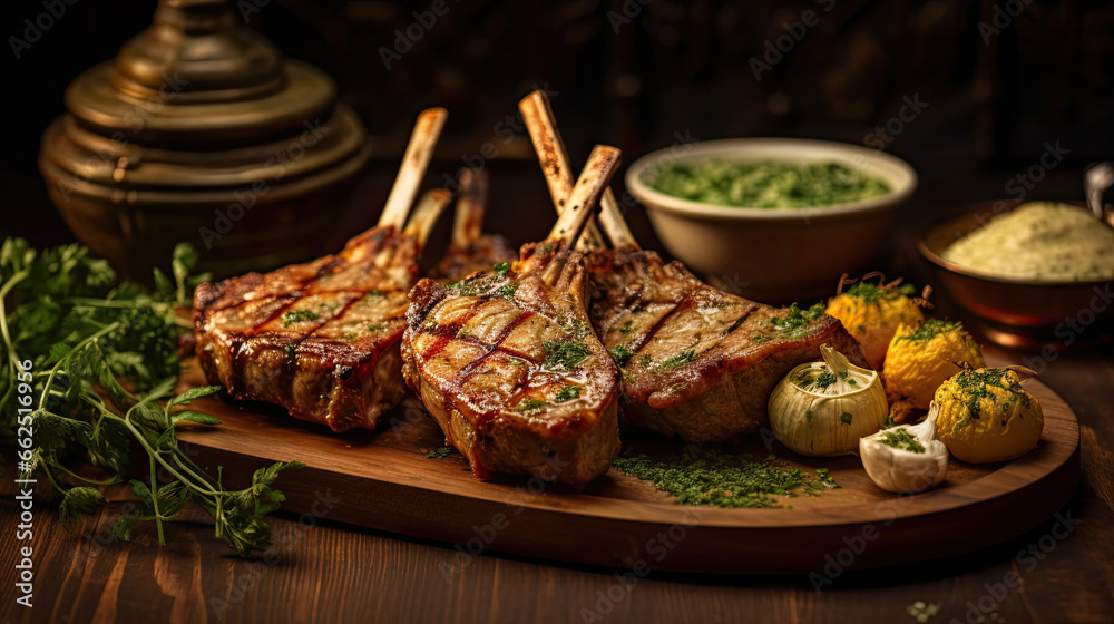
POLYGON ((883 179, 832 160, 678 162, 646 169, 643 182, 682 199, 749 208, 832 206, 890 192, 883 179))

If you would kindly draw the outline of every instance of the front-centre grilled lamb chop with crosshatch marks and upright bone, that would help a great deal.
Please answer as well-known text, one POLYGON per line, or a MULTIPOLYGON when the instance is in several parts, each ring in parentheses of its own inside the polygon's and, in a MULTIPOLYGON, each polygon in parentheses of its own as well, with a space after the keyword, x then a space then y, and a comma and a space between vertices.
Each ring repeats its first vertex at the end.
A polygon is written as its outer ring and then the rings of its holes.
POLYGON ((549 237, 521 260, 410 293, 403 374, 476 476, 582 487, 618 454, 618 369, 588 322, 569 248, 618 160, 597 146, 549 237))

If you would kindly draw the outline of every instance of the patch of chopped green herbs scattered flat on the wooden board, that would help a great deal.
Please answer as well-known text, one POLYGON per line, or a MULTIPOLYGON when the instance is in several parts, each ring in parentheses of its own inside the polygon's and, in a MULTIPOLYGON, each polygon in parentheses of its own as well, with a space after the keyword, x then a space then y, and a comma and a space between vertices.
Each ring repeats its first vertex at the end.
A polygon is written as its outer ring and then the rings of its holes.
POLYGON ((687 445, 661 460, 644 455, 619 457, 613 468, 654 484, 677 497, 681 505, 715 507, 776 507, 775 496, 797 496, 837 487, 824 470, 817 479, 773 455, 755 459, 719 449, 687 445))

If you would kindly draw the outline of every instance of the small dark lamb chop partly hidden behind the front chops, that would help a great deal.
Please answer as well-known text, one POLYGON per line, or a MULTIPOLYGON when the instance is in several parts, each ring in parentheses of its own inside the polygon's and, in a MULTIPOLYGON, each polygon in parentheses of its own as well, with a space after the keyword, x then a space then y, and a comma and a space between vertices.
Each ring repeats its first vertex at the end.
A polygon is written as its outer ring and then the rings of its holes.
POLYGON ((483 169, 461 169, 452 241, 440 262, 430 271, 430 277, 452 282, 477 271, 491 269, 500 262, 514 262, 518 259, 506 238, 498 234, 483 234, 487 187, 487 174, 483 169))

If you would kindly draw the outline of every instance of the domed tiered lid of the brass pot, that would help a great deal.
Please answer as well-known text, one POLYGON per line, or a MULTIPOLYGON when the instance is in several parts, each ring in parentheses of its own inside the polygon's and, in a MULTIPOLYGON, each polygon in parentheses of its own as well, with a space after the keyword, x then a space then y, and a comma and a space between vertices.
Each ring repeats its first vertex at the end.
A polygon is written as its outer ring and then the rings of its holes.
POLYGON ((329 116, 336 87, 287 61, 224 0, 159 0, 150 28, 66 92, 77 125, 167 149, 267 143, 329 116))

